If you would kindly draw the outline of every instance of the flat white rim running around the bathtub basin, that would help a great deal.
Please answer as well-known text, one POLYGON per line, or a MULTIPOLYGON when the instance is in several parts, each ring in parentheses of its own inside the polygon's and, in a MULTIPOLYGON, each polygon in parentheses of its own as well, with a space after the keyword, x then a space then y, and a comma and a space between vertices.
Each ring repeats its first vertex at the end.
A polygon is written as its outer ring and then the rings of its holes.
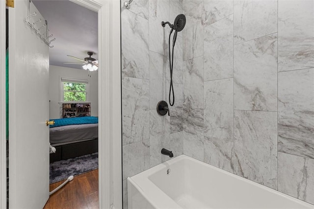
MULTIPOLYGON (((211 169, 214 169, 215 171, 218 171, 218 172, 221 172, 221 173, 224 173, 228 176, 231 176, 233 178, 236 178, 242 182, 246 182, 246 183, 249 183, 253 186, 257 186, 261 189, 264 189, 266 191, 269 191, 271 192, 272 194, 274 195, 279 195, 279 196, 282 196, 284 198, 287 198, 297 204, 300 204, 301 206, 304 206, 304 207, 309 207, 309 209, 314 209, 314 205, 312 205, 311 203, 308 203, 308 202, 305 202, 303 200, 300 200, 298 198, 295 198, 293 196, 290 196, 288 194, 285 194, 283 192, 280 192, 276 189, 273 189, 273 188, 270 188, 268 186, 265 186, 265 185, 262 185, 260 183, 257 183, 257 182, 254 182, 252 180, 249 180, 249 179, 246 179, 244 177, 241 177, 241 176, 238 176, 234 173, 231 173, 231 172, 228 172, 228 171, 225 171, 221 168, 218 168, 218 167, 215 167, 213 165, 210 165, 206 162, 203 162, 201 160, 198 160, 198 159, 194 159, 192 157, 189 157, 189 156, 186 156, 184 154, 178 156, 178 157, 174 157, 173 159, 170 159, 170 160, 167 160, 161 164, 158 164, 152 168, 149 168, 141 173, 138 173, 132 177, 128 177, 127 180, 128 180, 128 183, 132 183, 132 185, 143 195, 144 198, 146 198, 146 200, 153 206, 155 207, 156 209, 163 209, 163 208, 169 208, 169 205, 165 206, 163 204, 160 204, 160 200, 159 198, 165 198, 165 200, 171 200, 173 203, 175 203, 175 201, 173 199, 171 199, 166 193, 164 193, 164 191, 162 191, 155 183, 153 183, 151 180, 150 180, 150 176, 157 173, 158 171, 161 171, 161 170, 164 170, 164 169, 168 169, 170 168, 170 166, 174 163, 177 163, 181 160, 184 160, 184 159, 188 159, 188 160, 191 160, 193 161, 194 163, 199 163, 203 166, 207 166, 211 169), (139 182, 139 183, 137 183, 139 182), (151 186, 151 187, 150 187, 151 186), (158 197, 156 197, 156 194, 154 192, 159 192, 159 193, 162 193, 162 195, 158 197), (311 208, 312 207, 312 208, 311 208)), ((129 188, 129 187, 128 187, 129 188)), ((128 198, 129 198, 129 191, 128 191, 128 198)), ((129 201, 128 201, 129 202, 129 201)), ((165 201, 163 201, 165 202, 165 201)), ((179 206, 177 203, 175 203, 173 206, 171 206, 172 209, 182 209, 181 206, 179 206)))

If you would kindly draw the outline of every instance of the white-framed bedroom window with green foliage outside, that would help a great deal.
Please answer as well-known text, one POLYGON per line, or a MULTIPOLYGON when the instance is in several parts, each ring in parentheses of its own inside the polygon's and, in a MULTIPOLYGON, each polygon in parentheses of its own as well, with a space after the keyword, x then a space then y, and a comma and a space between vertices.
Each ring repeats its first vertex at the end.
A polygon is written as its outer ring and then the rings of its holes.
POLYGON ((61 78, 60 96, 61 102, 89 101, 89 80, 61 78))

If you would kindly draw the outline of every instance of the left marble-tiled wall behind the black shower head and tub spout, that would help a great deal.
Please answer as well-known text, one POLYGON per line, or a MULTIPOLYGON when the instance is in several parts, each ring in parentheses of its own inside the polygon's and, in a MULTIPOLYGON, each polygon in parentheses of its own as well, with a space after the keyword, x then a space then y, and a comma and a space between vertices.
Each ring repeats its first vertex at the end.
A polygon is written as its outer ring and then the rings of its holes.
MULTIPOLYGON (((130 10, 121 0, 122 56, 122 165, 123 207, 128 207, 127 178, 169 157, 183 154, 183 34, 174 49, 173 86, 175 105, 170 117, 159 116, 157 103, 169 104, 170 29, 161 21, 174 21, 183 13, 183 0, 133 0, 130 10)), ((171 39, 172 41, 172 39, 171 39)))

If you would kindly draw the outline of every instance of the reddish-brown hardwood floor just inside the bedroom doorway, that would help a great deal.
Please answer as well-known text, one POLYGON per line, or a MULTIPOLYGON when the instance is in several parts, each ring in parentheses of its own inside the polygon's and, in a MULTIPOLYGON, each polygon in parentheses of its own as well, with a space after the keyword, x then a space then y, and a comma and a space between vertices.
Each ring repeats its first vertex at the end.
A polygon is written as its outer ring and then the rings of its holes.
MULTIPOLYGON (((50 191, 61 183, 50 184, 50 191)), ((98 169, 75 176, 50 196, 44 209, 99 209, 98 169)))

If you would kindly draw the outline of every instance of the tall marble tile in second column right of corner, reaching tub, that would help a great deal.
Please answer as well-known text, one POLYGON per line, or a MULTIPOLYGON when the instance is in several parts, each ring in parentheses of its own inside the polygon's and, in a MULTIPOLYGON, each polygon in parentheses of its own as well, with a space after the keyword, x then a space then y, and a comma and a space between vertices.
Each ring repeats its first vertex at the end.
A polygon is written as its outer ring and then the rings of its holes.
POLYGON ((233 172, 233 78, 206 81, 204 162, 233 172))

